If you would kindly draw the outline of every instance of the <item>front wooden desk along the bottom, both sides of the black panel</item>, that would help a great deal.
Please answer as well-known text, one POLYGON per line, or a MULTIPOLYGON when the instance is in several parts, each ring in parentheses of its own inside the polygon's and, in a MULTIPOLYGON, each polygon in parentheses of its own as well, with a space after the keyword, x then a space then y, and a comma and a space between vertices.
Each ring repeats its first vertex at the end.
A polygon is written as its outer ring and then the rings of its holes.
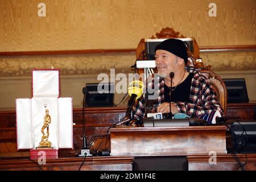
MULTIPOLYGON (((244 154, 238 154, 241 163, 246 162, 244 154)), ((216 164, 209 164, 209 155, 188 155, 189 171, 236 171, 239 167, 231 154, 217 155, 216 164)), ((47 160, 40 165, 43 170, 77 171, 83 162, 83 158, 60 158, 47 160)), ((86 158, 81 170, 86 171, 131 171, 133 156, 106 156, 86 158)), ((247 154, 246 170, 256 170, 256 154, 247 154)), ((28 159, 3 159, 0 158, 0 170, 40 170, 40 168, 28 159)))

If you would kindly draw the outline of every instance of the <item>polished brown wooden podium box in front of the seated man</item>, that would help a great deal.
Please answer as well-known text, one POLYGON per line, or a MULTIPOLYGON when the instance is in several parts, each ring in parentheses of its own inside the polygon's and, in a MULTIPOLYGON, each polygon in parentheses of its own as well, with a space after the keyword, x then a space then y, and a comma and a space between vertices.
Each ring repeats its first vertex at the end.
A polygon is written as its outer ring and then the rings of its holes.
POLYGON ((116 127, 112 156, 226 154, 226 126, 116 127))

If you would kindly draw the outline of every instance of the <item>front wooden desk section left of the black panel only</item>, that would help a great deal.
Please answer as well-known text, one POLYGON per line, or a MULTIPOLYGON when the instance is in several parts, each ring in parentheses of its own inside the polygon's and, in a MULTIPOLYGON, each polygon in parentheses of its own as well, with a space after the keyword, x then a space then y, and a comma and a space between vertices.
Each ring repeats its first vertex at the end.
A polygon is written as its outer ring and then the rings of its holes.
MULTIPOLYGON (((48 159, 46 164, 39 165, 28 158, 0 158, 0 170, 51 170, 51 171, 78 171, 84 158, 48 159), (39 167, 40 166, 40 167, 39 167)), ((129 157, 88 157, 82 165, 82 171, 131 171, 133 158, 129 157)))

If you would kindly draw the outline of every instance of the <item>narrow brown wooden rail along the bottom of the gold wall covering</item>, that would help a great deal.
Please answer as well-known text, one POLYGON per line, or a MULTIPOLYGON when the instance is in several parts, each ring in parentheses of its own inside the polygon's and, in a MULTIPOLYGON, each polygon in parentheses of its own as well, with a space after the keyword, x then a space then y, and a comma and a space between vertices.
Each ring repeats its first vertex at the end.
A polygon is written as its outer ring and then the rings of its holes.
MULTIPOLYGON (((200 52, 224 52, 256 50, 256 45, 245 46, 209 46, 199 47, 200 52)), ((60 51, 19 51, 0 52, 0 56, 43 56, 43 55, 89 55, 89 54, 135 54, 136 49, 86 49, 86 50, 60 50, 60 51)))

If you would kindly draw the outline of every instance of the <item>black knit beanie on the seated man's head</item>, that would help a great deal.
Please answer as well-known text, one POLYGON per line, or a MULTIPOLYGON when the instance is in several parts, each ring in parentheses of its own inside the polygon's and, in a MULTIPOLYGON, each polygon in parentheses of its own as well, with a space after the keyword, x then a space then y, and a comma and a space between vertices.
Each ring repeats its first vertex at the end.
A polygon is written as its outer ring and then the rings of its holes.
POLYGON ((155 47, 155 52, 158 49, 168 51, 173 53, 176 56, 184 59, 185 64, 188 62, 187 47, 182 40, 179 39, 167 39, 161 42, 158 46, 155 47))

